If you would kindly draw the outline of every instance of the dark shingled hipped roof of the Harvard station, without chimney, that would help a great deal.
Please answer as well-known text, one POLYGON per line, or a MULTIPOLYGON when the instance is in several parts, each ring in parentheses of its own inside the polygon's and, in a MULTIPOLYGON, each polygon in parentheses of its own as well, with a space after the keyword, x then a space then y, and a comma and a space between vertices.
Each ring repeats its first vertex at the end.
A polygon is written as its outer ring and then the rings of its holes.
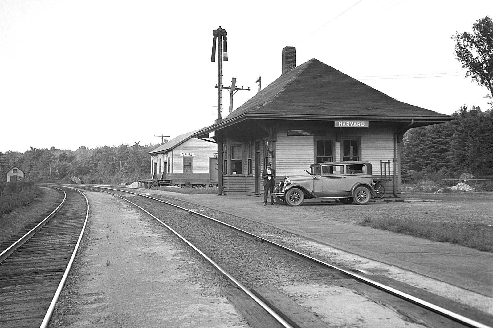
POLYGON ((245 119, 451 121, 451 115, 410 105, 352 78, 315 58, 281 75, 222 121, 194 136, 245 119))

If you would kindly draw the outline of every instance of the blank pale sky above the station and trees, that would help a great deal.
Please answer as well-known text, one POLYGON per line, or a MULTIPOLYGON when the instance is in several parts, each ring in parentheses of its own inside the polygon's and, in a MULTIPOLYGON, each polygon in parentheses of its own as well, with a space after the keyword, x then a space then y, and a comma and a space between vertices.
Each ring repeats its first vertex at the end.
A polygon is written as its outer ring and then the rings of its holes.
MULTIPOLYGON (((397 100, 443 114, 489 108, 465 78, 456 32, 491 0, 0 0, 0 151, 157 144, 213 124, 212 30, 228 32, 234 108, 311 58, 397 100)), ((223 117, 229 93, 223 91, 223 117)))

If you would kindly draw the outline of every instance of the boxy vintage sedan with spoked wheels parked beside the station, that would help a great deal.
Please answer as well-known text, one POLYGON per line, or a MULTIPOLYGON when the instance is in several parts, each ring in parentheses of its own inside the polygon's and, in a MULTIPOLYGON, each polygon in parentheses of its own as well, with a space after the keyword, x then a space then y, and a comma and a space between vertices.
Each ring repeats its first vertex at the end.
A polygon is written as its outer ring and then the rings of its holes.
POLYGON ((286 176, 274 188, 280 204, 300 206, 308 198, 337 198, 344 204, 367 204, 374 196, 369 162, 331 162, 310 165, 306 176, 286 176))

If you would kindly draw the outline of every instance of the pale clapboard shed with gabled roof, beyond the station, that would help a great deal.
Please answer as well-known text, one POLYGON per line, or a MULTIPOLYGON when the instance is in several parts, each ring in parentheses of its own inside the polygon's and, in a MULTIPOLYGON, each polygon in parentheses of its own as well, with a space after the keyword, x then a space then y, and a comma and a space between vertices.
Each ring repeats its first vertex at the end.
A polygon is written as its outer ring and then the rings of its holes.
POLYGON ((217 185, 217 144, 197 139, 196 131, 178 135, 149 152, 151 178, 139 180, 139 187, 217 185))

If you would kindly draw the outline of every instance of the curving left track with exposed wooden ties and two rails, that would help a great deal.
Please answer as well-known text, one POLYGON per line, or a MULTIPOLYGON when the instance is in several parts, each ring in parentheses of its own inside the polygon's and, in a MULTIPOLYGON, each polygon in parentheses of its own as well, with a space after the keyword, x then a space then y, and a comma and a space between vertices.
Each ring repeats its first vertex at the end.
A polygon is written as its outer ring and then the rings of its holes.
POLYGON ((69 187, 34 228, 0 253, 0 327, 47 327, 69 274, 89 213, 87 198, 69 187))

